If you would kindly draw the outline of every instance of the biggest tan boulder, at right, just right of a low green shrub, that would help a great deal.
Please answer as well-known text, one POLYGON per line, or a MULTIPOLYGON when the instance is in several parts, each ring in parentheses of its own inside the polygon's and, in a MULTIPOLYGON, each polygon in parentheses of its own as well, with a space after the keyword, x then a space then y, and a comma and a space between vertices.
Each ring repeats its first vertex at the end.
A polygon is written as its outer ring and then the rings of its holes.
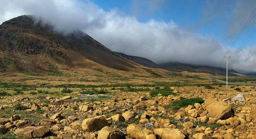
POLYGON ((224 120, 234 115, 231 106, 223 101, 214 102, 211 99, 209 102, 208 100, 205 100, 204 107, 209 113, 209 116, 216 118, 216 120, 224 120))

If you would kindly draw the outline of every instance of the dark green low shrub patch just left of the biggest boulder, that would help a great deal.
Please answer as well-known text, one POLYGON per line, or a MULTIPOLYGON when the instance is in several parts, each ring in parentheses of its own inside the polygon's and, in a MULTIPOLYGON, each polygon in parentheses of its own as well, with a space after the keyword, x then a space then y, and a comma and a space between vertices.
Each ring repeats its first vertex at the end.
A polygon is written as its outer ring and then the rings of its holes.
POLYGON ((204 100, 202 98, 187 98, 184 100, 176 100, 176 101, 170 103, 169 105, 167 105, 167 107, 177 110, 179 108, 185 108, 189 105, 194 106, 195 103, 202 104, 202 103, 204 103, 204 100))

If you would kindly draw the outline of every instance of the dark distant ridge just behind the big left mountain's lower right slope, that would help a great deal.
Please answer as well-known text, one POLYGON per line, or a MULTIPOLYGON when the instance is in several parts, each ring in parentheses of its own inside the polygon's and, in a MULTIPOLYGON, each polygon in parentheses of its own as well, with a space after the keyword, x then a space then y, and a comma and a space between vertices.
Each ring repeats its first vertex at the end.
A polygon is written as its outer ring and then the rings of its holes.
POLYGON ((152 62, 151 60, 149 60, 147 58, 142 58, 139 56, 129 56, 129 55, 121 53, 121 52, 115 52, 115 53, 119 54, 120 56, 123 56, 124 58, 132 60, 133 62, 136 62, 138 64, 146 66, 148 68, 160 68, 160 66, 158 64, 152 62))

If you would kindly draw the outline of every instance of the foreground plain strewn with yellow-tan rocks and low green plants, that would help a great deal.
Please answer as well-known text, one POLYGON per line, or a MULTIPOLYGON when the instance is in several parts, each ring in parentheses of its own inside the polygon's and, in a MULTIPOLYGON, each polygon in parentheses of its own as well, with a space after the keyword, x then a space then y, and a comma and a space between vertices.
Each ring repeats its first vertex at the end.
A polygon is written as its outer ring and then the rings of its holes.
MULTIPOLYGON (((249 89, 256 94, 253 87, 242 90, 249 89)), ((197 86, 62 90, 11 96, 0 91, 0 138, 256 138, 256 98, 248 91, 197 86), (244 95, 231 100, 239 93, 244 95)))

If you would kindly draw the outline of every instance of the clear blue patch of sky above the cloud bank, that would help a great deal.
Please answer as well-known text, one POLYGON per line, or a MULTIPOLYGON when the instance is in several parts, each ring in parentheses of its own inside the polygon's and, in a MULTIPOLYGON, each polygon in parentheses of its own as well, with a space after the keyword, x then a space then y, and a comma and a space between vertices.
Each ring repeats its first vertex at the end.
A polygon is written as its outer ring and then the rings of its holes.
MULTIPOLYGON (((194 33, 203 36, 212 35, 227 46, 233 44, 242 29, 241 27, 239 31, 232 34, 227 30, 230 23, 235 20, 232 16, 238 0, 92 0, 92 2, 104 11, 118 9, 129 16, 136 17, 140 22, 147 22, 150 19, 167 23, 173 21, 179 27, 194 33)), ((248 2, 251 3, 246 7, 249 10, 244 11, 243 19, 238 19, 244 24, 256 8, 256 1, 248 0, 248 2)), ((254 17, 233 47, 239 47, 254 31, 255 26, 254 17)), ((250 39, 247 45, 255 46, 255 38, 254 36, 250 39)))

